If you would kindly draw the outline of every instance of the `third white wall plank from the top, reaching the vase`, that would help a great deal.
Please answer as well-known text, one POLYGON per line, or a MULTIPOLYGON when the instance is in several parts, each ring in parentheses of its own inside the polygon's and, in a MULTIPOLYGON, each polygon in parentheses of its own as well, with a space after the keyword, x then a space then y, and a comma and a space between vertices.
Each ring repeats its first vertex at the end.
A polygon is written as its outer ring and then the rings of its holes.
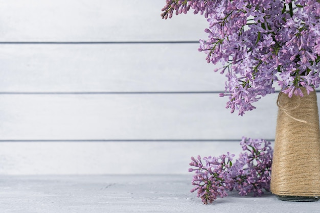
POLYGON ((277 94, 245 116, 218 94, 0 96, 0 139, 273 138, 277 94))

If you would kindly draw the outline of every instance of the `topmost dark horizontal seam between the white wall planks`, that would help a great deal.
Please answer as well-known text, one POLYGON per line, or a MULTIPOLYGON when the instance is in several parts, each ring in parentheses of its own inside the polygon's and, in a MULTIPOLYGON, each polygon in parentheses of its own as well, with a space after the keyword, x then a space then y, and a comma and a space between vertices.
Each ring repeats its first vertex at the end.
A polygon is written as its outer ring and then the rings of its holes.
POLYGON ((162 44, 199 43, 199 41, 0 41, 0 44, 162 44))

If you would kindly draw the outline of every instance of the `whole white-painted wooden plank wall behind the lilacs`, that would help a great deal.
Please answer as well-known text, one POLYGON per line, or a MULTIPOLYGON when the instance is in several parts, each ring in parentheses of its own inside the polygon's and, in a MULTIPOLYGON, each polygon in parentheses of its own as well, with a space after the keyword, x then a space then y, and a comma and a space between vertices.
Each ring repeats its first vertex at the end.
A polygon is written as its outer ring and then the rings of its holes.
POLYGON ((0 174, 185 174, 189 157, 273 139, 277 94, 243 117, 165 0, 0 4, 0 174))

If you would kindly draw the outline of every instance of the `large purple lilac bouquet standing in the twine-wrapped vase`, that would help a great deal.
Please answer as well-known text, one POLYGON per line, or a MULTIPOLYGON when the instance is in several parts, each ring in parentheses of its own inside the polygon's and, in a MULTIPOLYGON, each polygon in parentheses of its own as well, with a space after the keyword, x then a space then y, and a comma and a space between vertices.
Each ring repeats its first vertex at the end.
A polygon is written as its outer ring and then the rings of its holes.
POLYGON ((222 64, 226 108, 231 112, 255 109, 253 103, 274 93, 303 96, 319 87, 320 0, 167 0, 161 14, 204 14, 207 40, 199 51, 208 63, 222 64))

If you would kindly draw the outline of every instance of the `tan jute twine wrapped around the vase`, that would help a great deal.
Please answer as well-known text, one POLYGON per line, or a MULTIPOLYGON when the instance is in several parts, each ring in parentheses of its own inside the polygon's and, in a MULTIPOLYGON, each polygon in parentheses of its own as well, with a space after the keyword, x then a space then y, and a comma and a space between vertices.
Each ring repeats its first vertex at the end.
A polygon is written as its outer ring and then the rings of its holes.
POLYGON ((304 97, 280 93, 271 192, 320 196, 320 133, 316 92, 304 97))

